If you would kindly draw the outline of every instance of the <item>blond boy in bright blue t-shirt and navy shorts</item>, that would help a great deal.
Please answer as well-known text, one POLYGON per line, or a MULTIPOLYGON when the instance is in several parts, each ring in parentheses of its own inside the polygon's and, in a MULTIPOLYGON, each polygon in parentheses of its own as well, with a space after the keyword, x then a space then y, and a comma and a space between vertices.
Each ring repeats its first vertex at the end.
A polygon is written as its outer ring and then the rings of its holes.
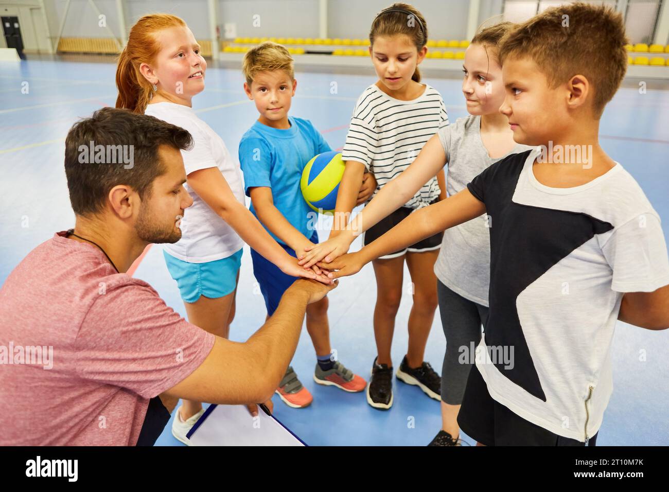
MULTIPOLYGON (((292 58, 283 46, 265 42, 244 56, 244 90, 256 102, 260 118, 242 137, 240 164, 244 186, 251 197, 251 212, 286 252, 304 255, 304 248, 318 243, 311 230, 312 210, 300 191, 300 178, 306 163, 314 155, 330 151, 330 146, 309 120, 288 116, 297 81, 293 77, 292 58)), ((373 178, 361 189, 361 203, 374 191, 373 178)), ((254 250, 253 269, 265 299, 268 317, 295 278, 282 272, 254 250)), ((316 267, 318 268, 318 267, 316 267)), ((310 304, 306 309, 306 329, 316 350, 314 381, 348 392, 360 392, 367 383, 330 357, 328 299, 310 304)), ((292 367, 276 390, 293 408, 312 402, 312 396, 298 380, 292 367)))

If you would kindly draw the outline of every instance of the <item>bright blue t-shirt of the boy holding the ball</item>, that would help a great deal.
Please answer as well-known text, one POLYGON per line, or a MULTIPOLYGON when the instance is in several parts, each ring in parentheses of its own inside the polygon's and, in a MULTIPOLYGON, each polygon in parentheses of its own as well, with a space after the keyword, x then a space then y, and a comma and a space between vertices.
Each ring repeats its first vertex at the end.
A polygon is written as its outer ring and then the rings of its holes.
MULTIPOLYGON (((306 163, 314 155, 328 152, 330 146, 309 120, 288 116, 290 128, 280 130, 256 121, 244 133, 240 142, 240 165, 244 172, 244 191, 267 186, 272 188, 274 206, 305 238, 314 233, 309 230, 310 219, 316 214, 304 201, 300 179, 306 163)), ((251 212, 258 217, 253 203, 251 212)), ((311 220, 314 224, 314 220, 311 220)), ((264 225, 264 224, 263 224, 264 225)), ((267 226, 265 226, 267 229, 267 226)), ((267 229, 280 244, 286 244, 267 229)))

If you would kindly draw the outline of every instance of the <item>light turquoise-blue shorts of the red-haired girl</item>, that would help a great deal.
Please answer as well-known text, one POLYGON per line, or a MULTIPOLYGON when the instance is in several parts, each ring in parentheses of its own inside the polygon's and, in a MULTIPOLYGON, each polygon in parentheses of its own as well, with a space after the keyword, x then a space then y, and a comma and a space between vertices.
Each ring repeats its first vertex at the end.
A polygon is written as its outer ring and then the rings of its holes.
POLYGON ((189 263, 163 250, 169 274, 177 280, 181 299, 194 303, 201 295, 216 299, 232 293, 237 286, 237 272, 242 264, 242 251, 206 263, 189 263))

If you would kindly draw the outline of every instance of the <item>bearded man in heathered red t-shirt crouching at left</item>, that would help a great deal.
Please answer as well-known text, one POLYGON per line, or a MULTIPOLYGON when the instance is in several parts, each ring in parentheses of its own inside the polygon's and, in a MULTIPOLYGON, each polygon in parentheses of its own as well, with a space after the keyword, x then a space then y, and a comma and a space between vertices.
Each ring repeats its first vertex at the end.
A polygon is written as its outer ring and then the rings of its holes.
POLYGON ((181 237, 178 220, 193 203, 181 159, 190 145, 179 127, 114 108, 70 129, 76 226, 29 252, 0 289, 0 445, 153 444, 169 419, 159 395, 271 398, 306 305, 334 284, 297 280, 235 343, 191 325, 125 273, 147 244, 181 237), (110 160, 118 149, 130 159, 110 160))

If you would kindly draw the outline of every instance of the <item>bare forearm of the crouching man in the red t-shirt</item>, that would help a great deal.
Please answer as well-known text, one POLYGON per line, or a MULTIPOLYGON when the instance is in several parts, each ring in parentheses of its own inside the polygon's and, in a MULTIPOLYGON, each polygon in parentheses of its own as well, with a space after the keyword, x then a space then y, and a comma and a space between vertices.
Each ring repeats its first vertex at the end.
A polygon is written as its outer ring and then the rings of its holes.
POLYGON ((262 361, 262 374, 268 375, 272 390, 279 385, 295 353, 308 301, 308 293, 293 284, 282 296, 274 315, 246 342, 262 361))

